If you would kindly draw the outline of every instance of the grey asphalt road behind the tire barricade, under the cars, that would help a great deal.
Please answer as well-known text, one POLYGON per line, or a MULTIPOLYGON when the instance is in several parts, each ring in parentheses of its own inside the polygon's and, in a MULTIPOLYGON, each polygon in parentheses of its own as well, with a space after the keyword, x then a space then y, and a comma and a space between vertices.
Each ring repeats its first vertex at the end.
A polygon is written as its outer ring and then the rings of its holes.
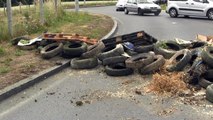
POLYGON ((138 16, 135 13, 125 15, 123 11, 116 12, 114 6, 82 10, 115 17, 119 23, 118 35, 145 30, 160 40, 176 37, 193 40, 197 34, 213 34, 213 21, 207 18, 184 18, 182 16, 180 18, 170 18, 164 11, 159 16, 153 14, 138 16))

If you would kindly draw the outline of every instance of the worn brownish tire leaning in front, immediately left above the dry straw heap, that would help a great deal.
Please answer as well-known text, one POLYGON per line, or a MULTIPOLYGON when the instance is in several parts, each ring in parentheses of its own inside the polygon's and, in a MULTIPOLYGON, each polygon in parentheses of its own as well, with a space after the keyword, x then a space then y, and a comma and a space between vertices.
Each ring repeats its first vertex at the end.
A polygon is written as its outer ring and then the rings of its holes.
POLYGON ((152 63, 139 69, 139 73, 142 75, 152 74, 152 73, 156 72, 157 70, 159 70, 159 68, 161 68, 165 64, 165 62, 166 62, 166 60, 162 55, 156 55, 154 58, 154 61, 152 63))

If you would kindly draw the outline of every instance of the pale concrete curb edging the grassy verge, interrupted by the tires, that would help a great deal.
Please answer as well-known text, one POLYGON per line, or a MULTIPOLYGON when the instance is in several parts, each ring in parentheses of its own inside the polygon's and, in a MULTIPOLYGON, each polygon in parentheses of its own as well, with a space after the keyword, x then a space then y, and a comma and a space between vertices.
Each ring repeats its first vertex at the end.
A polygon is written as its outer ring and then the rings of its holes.
MULTIPOLYGON (((114 18, 112 18, 112 20, 114 22, 113 28, 107 35, 105 35, 103 38, 101 38, 101 40, 107 39, 115 34, 118 24, 114 18)), ((33 86, 34 84, 36 84, 38 82, 45 80, 48 77, 51 77, 52 75, 59 73, 60 71, 62 71, 63 69, 65 69, 69 66, 70 66, 70 60, 66 60, 60 66, 55 66, 50 69, 44 70, 44 71, 38 73, 37 75, 33 75, 29 78, 21 80, 11 86, 8 86, 8 87, 0 90, 0 102, 11 97, 14 94, 21 92, 24 89, 27 89, 27 88, 33 86)))

